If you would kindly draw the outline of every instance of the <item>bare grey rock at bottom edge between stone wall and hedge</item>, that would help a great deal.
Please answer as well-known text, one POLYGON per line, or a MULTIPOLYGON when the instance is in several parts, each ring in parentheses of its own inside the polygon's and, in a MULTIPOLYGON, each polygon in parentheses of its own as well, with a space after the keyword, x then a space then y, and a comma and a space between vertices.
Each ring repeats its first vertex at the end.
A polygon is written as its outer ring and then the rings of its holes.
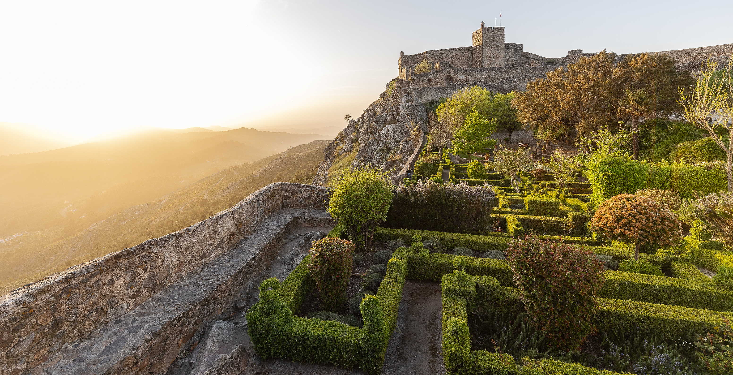
POLYGON ((244 349, 247 333, 229 321, 216 321, 191 353, 191 375, 238 375, 249 355, 244 349))

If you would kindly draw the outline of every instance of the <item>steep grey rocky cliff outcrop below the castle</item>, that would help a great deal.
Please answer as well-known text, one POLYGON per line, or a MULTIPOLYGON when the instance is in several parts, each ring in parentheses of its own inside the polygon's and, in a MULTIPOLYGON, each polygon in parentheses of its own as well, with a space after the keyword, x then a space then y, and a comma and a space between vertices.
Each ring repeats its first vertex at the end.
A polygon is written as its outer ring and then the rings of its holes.
POLYGON ((326 185, 345 167, 372 165, 397 175, 427 132, 427 109, 410 92, 383 92, 325 150, 314 185, 326 185))

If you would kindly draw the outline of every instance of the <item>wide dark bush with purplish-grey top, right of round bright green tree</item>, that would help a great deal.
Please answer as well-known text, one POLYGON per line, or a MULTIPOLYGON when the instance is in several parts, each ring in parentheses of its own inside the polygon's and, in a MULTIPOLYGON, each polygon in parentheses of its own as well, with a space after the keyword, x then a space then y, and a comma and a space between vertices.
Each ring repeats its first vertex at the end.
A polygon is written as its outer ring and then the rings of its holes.
POLYGON ((493 189, 432 181, 393 189, 386 227, 479 233, 491 225, 493 189))

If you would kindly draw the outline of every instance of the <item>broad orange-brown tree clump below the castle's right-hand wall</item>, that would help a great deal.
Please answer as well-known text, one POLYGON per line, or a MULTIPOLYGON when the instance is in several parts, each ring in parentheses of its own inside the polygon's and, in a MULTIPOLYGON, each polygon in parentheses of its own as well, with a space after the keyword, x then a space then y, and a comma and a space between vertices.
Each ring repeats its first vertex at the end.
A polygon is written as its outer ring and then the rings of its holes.
POLYGON ((538 138, 570 142, 622 120, 618 109, 625 90, 645 90, 653 111, 667 116, 681 111, 670 87, 692 83, 690 73, 677 71, 666 55, 632 54, 616 63, 616 54, 604 50, 528 83, 512 104, 538 138))

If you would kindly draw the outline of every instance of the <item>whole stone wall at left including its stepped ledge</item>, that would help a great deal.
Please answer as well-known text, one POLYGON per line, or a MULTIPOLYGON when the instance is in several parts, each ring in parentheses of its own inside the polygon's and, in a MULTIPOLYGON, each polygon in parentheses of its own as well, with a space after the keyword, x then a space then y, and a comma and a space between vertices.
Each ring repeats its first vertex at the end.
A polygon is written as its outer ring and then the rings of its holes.
POLYGON ((272 183, 196 225, 2 296, 0 374, 166 370, 196 330, 237 309, 289 230, 333 225, 327 202, 327 188, 272 183))

